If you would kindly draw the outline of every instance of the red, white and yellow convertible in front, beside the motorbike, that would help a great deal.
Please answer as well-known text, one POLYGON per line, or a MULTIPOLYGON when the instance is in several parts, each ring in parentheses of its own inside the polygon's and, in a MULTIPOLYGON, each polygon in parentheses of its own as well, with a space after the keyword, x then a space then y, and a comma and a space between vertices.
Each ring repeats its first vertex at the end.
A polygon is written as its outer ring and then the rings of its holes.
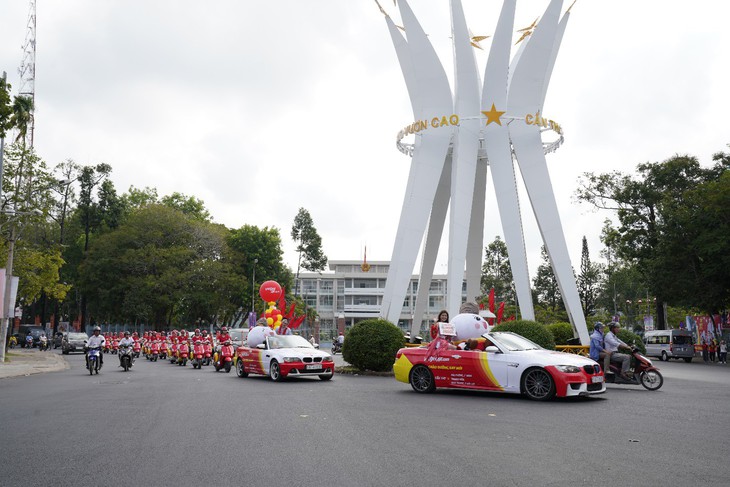
POLYGON ((490 332, 485 350, 401 348, 393 365, 395 378, 416 392, 437 387, 524 394, 530 399, 588 396, 606 391, 603 372, 593 360, 545 350, 510 332, 490 332))

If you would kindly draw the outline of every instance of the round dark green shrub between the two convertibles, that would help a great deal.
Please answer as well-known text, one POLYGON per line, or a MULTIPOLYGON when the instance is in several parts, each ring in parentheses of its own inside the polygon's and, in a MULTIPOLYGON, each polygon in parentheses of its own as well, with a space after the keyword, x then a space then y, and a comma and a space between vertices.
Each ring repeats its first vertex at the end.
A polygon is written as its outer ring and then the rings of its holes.
POLYGON ((395 354, 405 344, 403 332, 391 322, 365 320, 345 335, 342 358, 360 370, 385 372, 393 368, 395 354))

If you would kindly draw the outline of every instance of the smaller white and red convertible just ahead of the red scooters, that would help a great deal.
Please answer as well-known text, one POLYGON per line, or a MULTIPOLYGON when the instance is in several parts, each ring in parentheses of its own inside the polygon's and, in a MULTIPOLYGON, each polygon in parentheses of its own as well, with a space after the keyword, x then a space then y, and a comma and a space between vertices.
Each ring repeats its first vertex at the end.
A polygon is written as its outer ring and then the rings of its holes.
POLYGON ((256 348, 238 347, 236 356, 239 377, 261 374, 274 381, 307 376, 330 380, 335 372, 332 355, 316 349, 298 335, 267 336, 256 348))

